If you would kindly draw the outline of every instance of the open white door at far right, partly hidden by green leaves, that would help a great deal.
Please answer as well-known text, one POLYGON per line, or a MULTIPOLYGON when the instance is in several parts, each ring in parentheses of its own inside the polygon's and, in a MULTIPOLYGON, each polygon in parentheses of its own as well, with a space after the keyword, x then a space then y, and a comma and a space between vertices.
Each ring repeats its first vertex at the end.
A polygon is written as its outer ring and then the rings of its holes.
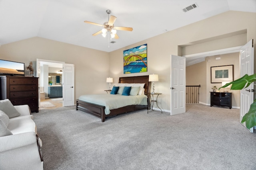
MULTIPOLYGON (((240 77, 244 76, 245 74, 248 74, 249 76, 254 74, 253 50, 253 39, 249 41, 246 45, 244 45, 240 50, 240 77)), ((250 86, 248 86, 247 88, 240 90, 240 122, 242 121, 243 116, 250 109, 250 105, 253 102, 252 89, 253 85, 250 84, 250 86)), ((243 123, 243 125, 245 127, 245 122, 243 123)), ((253 133, 253 127, 248 130, 253 133)))

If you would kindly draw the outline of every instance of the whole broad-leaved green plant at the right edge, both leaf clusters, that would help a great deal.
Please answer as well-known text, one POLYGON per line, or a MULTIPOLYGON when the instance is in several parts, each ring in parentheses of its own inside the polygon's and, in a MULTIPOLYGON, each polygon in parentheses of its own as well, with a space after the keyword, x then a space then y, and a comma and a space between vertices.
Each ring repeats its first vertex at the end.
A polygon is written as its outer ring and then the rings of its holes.
MULTIPOLYGON (((242 90, 250 86, 250 84, 253 84, 253 82, 255 81, 256 81, 256 74, 252 74, 250 76, 248 76, 248 74, 245 74, 243 77, 237 80, 234 80, 233 82, 227 83, 220 88, 224 88, 232 84, 230 90, 242 90)), ((254 100, 253 103, 251 104, 250 109, 248 110, 248 113, 244 115, 241 123, 244 123, 244 122, 248 129, 256 126, 256 100, 254 100)))

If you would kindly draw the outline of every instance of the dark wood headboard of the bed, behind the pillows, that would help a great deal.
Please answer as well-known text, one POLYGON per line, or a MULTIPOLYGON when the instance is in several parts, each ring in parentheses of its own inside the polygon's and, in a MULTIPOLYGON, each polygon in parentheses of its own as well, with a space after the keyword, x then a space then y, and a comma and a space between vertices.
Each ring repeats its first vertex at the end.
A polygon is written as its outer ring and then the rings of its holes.
POLYGON ((147 76, 120 77, 119 83, 145 83, 145 93, 150 92, 150 85, 147 76))

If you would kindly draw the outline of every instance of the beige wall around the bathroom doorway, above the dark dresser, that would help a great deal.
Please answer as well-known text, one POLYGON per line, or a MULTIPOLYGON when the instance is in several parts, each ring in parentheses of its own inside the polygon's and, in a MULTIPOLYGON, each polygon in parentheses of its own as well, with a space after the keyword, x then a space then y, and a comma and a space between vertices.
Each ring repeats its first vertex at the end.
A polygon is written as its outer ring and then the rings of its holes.
POLYGON ((36 59, 75 64, 75 99, 108 89, 109 53, 104 51, 34 37, 1 45, 0 59, 22 62, 25 66, 30 61, 36 63, 36 59))

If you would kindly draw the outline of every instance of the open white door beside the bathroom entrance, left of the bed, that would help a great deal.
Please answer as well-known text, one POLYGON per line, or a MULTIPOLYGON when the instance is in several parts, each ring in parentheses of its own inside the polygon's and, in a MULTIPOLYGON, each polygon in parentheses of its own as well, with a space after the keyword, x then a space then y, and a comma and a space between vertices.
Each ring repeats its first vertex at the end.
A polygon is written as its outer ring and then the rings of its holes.
POLYGON ((63 64, 63 106, 74 106, 75 104, 75 65, 63 64))

